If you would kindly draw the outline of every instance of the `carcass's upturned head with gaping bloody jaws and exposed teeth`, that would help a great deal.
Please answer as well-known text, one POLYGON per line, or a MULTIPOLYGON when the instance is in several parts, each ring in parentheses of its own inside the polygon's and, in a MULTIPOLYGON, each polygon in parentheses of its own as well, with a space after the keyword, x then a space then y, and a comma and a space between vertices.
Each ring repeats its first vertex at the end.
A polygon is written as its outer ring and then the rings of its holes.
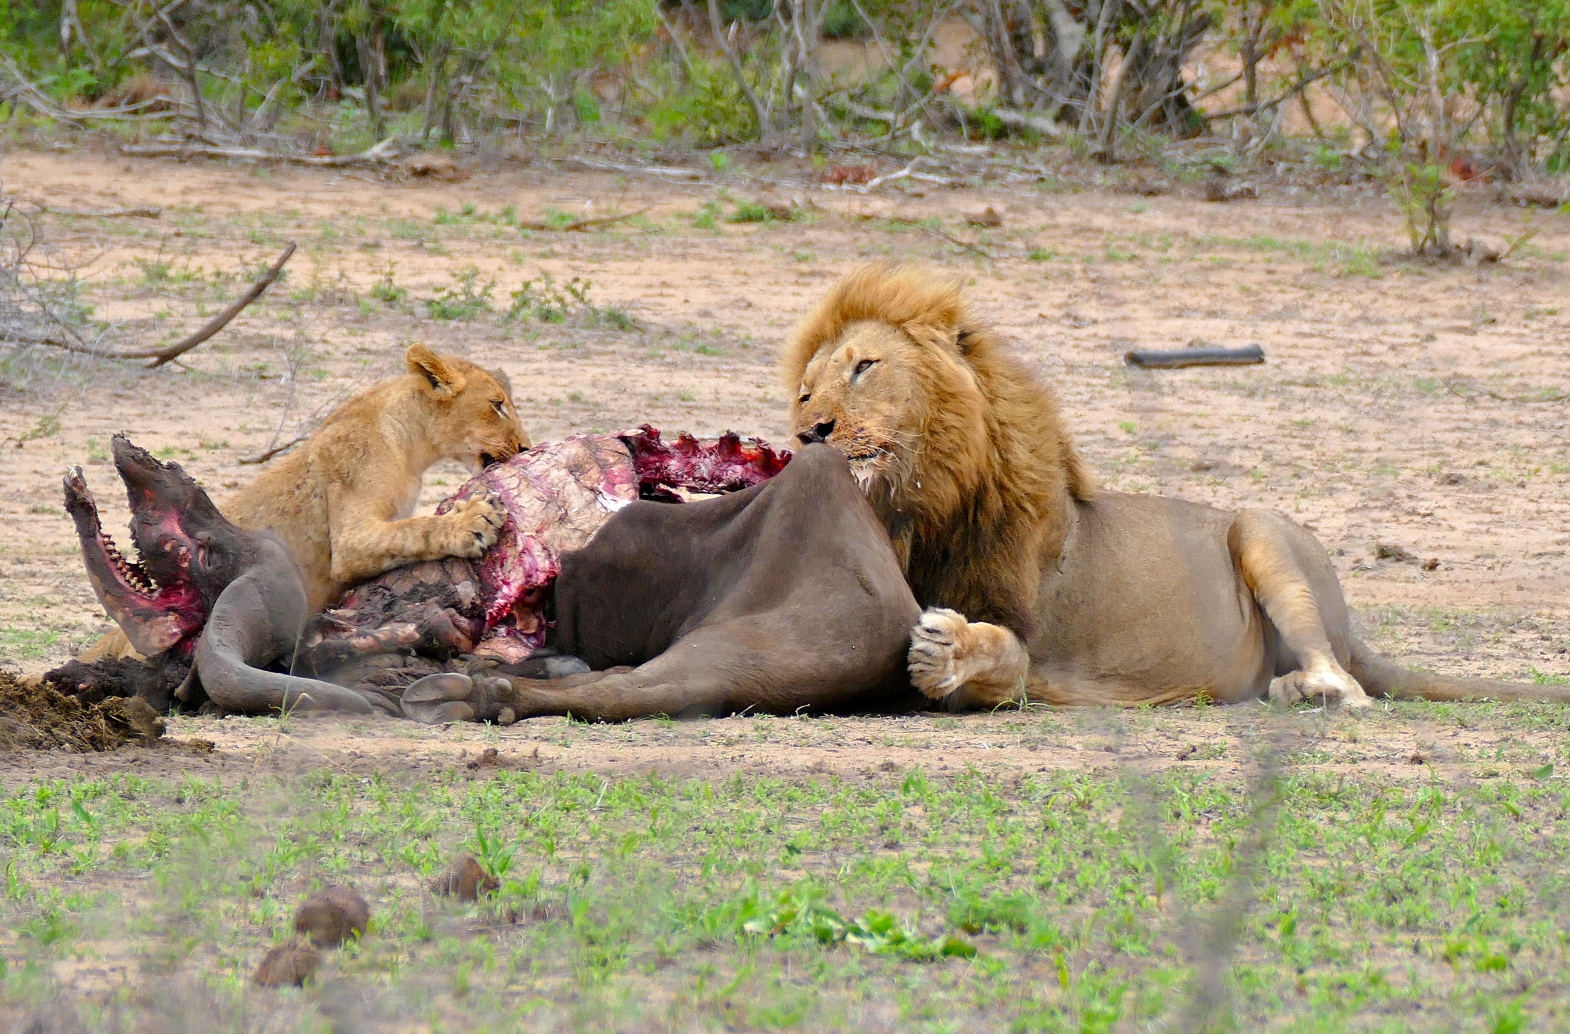
POLYGON ((64 476, 66 512, 77 526, 88 580, 137 652, 188 654, 212 600, 228 585, 228 578, 210 570, 212 561, 221 559, 217 556, 221 547, 215 548, 212 530, 204 525, 207 511, 217 515, 217 509, 179 464, 159 462, 124 435, 115 435, 113 451, 130 501, 130 534, 140 561, 127 561, 104 531, 82 468, 72 467, 64 476), (206 506, 196 503, 196 495, 206 506))

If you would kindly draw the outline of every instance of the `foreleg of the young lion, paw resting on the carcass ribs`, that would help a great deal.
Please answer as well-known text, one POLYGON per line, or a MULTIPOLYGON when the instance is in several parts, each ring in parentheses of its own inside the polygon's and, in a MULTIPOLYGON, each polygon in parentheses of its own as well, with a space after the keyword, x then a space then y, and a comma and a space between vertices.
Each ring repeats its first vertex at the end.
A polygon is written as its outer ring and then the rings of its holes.
POLYGON ((345 514, 333 522, 333 580, 356 583, 424 559, 477 558, 496 542, 506 520, 507 511, 488 493, 427 517, 345 514))

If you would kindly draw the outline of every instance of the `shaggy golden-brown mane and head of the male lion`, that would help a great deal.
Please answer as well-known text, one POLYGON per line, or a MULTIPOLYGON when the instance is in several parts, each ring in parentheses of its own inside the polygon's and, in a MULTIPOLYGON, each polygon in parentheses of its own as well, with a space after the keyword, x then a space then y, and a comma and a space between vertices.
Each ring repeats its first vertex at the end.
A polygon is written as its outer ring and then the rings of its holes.
POLYGON ((882 451, 857 475, 917 599, 1028 627, 1036 570, 1061 545, 1072 501, 1096 489, 1052 391, 1003 350, 959 281, 864 266, 798 325, 782 365, 796 391, 791 426, 835 420, 842 435, 882 451), (879 390, 882 371, 868 369, 854 405, 818 385, 840 354, 862 355, 857 343, 879 363, 898 361, 914 383, 887 377, 879 390), (809 379, 816 394, 802 401, 809 379))

